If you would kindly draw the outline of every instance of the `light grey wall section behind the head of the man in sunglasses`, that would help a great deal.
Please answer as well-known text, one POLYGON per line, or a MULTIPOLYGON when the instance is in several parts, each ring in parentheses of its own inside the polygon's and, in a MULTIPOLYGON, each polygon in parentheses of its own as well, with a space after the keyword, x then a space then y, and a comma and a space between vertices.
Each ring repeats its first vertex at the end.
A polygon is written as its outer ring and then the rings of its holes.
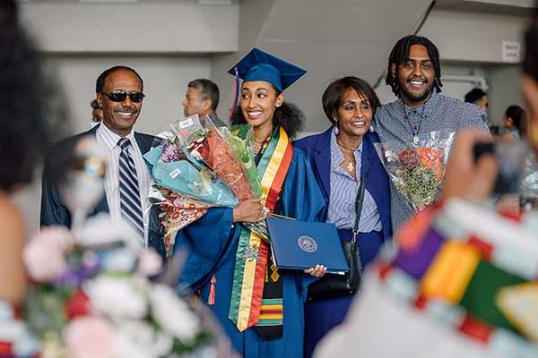
POLYGON ((72 132, 88 129, 95 81, 108 67, 124 64, 142 76, 146 98, 134 129, 152 134, 167 129, 174 119, 183 115, 181 101, 185 97, 187 82, 208 78, 211 72, 209 57, 194 56, 49 55, 48 63, 56 67, 60 84, 64 87, 72 132))

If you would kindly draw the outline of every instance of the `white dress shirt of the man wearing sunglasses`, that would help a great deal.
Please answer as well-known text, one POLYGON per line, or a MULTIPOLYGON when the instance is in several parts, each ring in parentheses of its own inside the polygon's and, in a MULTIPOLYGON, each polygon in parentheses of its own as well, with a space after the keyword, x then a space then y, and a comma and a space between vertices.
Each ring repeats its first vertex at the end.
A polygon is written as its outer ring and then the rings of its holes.
MULTIPOLYGON (((122 137, 115 132, 110 131, 104 123, 101 123, 96 132, 96 139, 107 153, 107 174, 105 175, 105 194, 107 196, 108 210, 113 220, 122 220, 120 201, 119 201, 119 155, 121 148, 117 145, 122 137)), ((144 245, 148 242, 148 221, 150 202, 148 193, 150 192, 151 177, 145 161, 142 156, 138 143, 134 139, 134 131, 125 137, 131 141, 129 152, 136 166, 136 175, 138 176, 138 190, 140 191, 140 204, 143 211, 143 232, 144 245)))

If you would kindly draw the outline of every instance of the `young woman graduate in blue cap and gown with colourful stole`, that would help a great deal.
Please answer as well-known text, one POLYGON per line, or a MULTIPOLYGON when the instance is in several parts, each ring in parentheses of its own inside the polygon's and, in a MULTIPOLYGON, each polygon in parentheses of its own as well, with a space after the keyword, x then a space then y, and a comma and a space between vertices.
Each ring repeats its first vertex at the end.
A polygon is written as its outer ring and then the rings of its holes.
POLYGON ((265 219, 265 210, 318 221, 325 201, 305 153, 294 149, 304 115, 284 102, 283 90, 306 71, 254 48, 230 70, 236 76, 232 129, 253 129, 252 147, 262 198, 234 209, 209 210, 178 233, 187 249, 182 281, 220 321, 234 349, 245 357, 303 357, 307 286, 326 268, 277 269, 269 244, 240 225, 265 219), (239 90, 239 78, 243 80, 239 90))

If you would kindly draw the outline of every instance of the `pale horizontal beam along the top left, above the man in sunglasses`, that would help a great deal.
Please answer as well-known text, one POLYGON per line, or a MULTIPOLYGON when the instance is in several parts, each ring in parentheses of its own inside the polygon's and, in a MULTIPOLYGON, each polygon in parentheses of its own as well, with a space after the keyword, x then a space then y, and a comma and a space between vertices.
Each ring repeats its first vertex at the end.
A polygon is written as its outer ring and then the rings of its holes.
POLYGON ((236 51, 238 44, 237 3, 39 0, 22 3, 21 15, 48 52, 215 53, 236 51))

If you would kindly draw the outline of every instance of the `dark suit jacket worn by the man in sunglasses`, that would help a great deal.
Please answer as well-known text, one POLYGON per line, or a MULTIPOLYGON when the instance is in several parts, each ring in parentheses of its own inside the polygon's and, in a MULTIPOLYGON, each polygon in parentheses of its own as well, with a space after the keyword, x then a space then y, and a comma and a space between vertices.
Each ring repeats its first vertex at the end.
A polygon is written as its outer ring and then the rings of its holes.
MULTIPOLYGON (((48 150, 48 154, 45 158, 45 165, 43 166, 43 180, 41 183, 41 226, 60 225, 71 227, 71 215, 69 214, 69 210, 65 207, 65 203, 62 200, 59 188, 51 180, 52 173, 50 172, 50 162, 51 160, 54 160, 54 153, 56 153, 58 150, 74 144, 76 141, 81 140, 82 137, 86 135, 95 136, 98 127, 99 125, 96 125, 95 127, 91 128, 90 131, 76 134, 65 139, 64 141, 59 141, 48 150)), ((145 154, 152 149, 154 139, 152 135, 134 132, 134 139, 136 140, 138 148, 140 148, 142 154, 145 154)), ((89 216, 96 215, 100 212, 108 213, 108 202, 106 195, 103 195, 100 202, 91 210, 89 216)), ((158 219, 157 213, 154 209, 152 209, 150 222, 152 223, 155 219, 158 219)), ((149 243, 150 245, 154 246, 157 251, 162 250, 164 252, 164 243, 162 243, 161 240, 161 230, 154 230, 153 228, 155 227, 161 228, 161 225, 150 225, 150 231, 148 234, 149 243)))

